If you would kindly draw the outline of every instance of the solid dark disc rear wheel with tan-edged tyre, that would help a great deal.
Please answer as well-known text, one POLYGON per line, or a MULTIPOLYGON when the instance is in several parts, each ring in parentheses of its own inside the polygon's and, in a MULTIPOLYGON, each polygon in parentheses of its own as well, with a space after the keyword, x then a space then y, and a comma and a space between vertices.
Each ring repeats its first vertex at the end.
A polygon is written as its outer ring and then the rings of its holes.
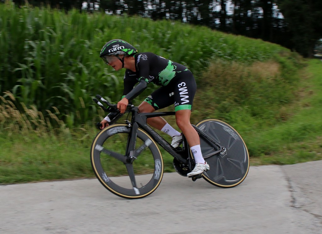
POLYGON ((202 177, 209 183, 223 188, 239 185, 246 178, 250 161, 247 146, 241 135, 229 124, 218 119, 205 119, 196 125, 226 148, 223 154, 211 155, 214 149, 203 137, 200 137, 200 146, 210 170, 202 177), (207 158, 207 155, 210 156, 207 158))

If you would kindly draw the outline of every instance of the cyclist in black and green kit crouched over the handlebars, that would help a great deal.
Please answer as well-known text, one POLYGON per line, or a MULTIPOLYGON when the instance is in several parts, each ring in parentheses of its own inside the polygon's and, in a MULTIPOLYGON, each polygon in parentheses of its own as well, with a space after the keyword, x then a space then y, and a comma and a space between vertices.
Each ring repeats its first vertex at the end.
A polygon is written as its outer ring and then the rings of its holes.
MULTIPOLYGON (((209 170, 201 149, 200 139, 196 130, 190 124, 191 107, 196 92, 196 82, 193 74, 184 66, 150 52, 138 53, 137 49, 121 39, 107 42, 99 55, 107 65, 116 71, 126 68, 124 75, 124 91, 117 108, 123 114, 129 101, 137 97, 152 82, 161 87, 149 95, 138 107, 140 113, 151 113, 174 103, 176 124, 192 145, 196 165, 188 173, 188 177, 199 175, 209 170), (134 85, 138 84, 134 87, 134 85)), ((102 121, 101 129, 109 126, 115 117, 110 113, 102 121)), ((182 135, 170 126, 162 117, 148 118, 147 123, 172 137, 171 145, 176 148, 182 143, 182 135)))

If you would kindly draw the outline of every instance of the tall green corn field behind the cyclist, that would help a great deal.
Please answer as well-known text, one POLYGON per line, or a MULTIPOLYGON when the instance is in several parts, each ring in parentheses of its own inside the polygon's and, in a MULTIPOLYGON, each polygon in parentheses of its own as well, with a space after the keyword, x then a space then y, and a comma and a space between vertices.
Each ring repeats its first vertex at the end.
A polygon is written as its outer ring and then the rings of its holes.
POLYGON ((103 13, 68 13, 49 8, 0 4, 0 93, 20 111, 33 107, 46 119, 55 114, 67 126, 98 115, 96 94, 117 102, 124 71, 99 58, 110 39, 123 39, 139 52, 153 52, 186 65, 202 79, 217 59, 251 64, 274 59, 281 46, 180 22, 103 13), (8 91, 8 92, 7 92, 8 91))

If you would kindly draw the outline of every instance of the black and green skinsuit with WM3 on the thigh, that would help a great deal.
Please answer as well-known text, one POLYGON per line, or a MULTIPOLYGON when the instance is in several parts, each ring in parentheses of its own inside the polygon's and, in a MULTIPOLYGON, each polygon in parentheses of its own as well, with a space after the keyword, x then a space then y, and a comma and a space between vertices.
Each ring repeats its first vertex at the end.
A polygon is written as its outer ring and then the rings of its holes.
POLYGON ((123 97, 132 100, 143 91, 138 87, 140 84, 133 89, 137 82, 152 82, 161 87, 145 101, 156 110, 173 103, 175 111, 191 110, 197 86, 193 74, 184 65, 149 52, 138 53, 134 59, 136 72, 129 69, 125 71, 123 97))

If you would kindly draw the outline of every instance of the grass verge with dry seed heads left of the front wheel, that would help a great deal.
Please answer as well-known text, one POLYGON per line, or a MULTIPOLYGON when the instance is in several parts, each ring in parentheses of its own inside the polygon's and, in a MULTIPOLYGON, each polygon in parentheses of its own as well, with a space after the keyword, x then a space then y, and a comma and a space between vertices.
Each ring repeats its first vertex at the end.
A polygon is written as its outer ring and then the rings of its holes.
POLYGON ((34 106, 22 104, 20 111, 13 94, 6 95, 0 97, 0 184, 92 177, 93 129, 69 129, 56 114, 47 110, 44 117, 34 106))

